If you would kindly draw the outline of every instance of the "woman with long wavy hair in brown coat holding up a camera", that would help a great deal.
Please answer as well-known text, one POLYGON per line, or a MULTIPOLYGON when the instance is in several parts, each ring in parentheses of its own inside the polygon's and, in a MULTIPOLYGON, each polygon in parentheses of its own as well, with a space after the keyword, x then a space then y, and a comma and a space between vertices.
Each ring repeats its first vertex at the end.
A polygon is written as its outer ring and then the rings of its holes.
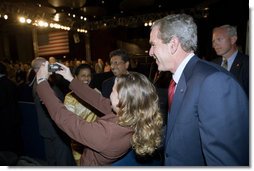
POLYGON ((55 97, 47 83, 48 62, 37 73, 37 92, 52 119, 71 138, 82 143, 81 165, 110 165, 132 147, 138 155, 151 155, 161 145, 162 116, 155 87, 142 74, 129 73, 115 80, 110 100, 78 79, 68 67, 57 73, 70 81, 70 88, 95 107, 102 117, 87 122, 55 97), (113 112, 112 111, 115 112, 113 112))

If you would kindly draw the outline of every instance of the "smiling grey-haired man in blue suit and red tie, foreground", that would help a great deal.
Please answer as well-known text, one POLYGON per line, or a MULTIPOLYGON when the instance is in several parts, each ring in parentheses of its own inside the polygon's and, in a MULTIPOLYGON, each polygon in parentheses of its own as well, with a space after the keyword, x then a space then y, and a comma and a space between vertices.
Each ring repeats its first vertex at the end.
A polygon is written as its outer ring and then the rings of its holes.
POLYGON ((249 165, 249 106, 240 84, 222 67, 203 61, 197 26, 186 14, 154 22, 150 56, 176 83, 165 133, 165 165, 249 165))

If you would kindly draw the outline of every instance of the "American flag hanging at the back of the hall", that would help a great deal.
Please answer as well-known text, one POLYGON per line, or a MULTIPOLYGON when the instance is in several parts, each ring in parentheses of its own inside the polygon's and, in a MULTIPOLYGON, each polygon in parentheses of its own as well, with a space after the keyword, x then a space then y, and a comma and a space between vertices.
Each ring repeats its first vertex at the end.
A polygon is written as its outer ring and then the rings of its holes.
POLYGON ((39 56, 61 55, 66 53, 69 53, 67 31, 38 33, 39 56))

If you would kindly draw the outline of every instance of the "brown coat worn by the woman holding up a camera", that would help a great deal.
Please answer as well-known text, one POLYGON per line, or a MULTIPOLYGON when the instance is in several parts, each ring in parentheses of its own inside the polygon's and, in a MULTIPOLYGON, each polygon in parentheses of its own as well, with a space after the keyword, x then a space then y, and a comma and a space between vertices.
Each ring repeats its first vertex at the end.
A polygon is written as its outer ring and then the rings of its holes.
POLYGON ((38 85, 37 92, 58 127, 72 139, 87 146, 81 157, 81 165, 110 165, 131 147, 133 131, 116 123, 117 116, 112 112, 109 99, 77 79, 70 83, 70 89, 105 115, 92 123, 84 121, 66 109, 46 81, 38 85))

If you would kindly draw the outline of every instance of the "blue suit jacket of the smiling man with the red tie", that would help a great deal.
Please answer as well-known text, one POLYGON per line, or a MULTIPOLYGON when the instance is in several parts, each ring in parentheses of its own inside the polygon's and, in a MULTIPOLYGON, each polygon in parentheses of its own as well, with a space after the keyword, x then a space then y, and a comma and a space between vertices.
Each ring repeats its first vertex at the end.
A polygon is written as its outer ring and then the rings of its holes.
POLYGON ((194 56, 169 112, 165 165, 248 165, 248 107, 229 72, 194 56))

